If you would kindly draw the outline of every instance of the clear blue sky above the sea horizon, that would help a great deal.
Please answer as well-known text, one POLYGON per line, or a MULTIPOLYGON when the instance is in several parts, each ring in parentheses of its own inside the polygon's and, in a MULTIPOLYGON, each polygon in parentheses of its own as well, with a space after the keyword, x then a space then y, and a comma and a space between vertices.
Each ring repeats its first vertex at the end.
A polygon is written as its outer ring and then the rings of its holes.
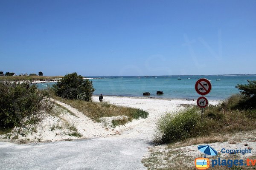
POLYGON ((1 0, 0 71, 256 74, 256 0, 1 0))

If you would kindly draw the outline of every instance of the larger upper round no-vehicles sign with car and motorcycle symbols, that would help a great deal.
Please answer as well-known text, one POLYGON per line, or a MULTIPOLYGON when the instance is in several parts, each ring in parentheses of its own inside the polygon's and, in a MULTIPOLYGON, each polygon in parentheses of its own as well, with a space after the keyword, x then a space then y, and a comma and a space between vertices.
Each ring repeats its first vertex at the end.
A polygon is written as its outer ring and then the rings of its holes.
POLYGON ((212 84, 208 79, 199 79, 195 83, 195 91, 200 95, 207 95, 212 90, 212 84))

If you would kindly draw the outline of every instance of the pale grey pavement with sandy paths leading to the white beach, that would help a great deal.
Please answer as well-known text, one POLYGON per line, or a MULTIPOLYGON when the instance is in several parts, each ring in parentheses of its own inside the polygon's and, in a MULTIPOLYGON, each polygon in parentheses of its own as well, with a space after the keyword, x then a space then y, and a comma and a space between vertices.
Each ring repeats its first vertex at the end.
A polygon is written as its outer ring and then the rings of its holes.
MULTIPOLYGON (((93 100, 98 101, 98 96, 93 96, 93 100)), ((104 100, 116 105, 141 108, 148 111, 149 116, 119 127, 116 129, 119 135, 22 145, 0 142, 0 170, 145 170, 147 168, 141 159, 151 146, 157 116, 179 108, 180 104, 195 104, 195 101, 113 96, 105 96, 104 100)), ((91 125, 90 119, 81 112, 63 106, 83 117, 91 131, 99 134, 104 132, 98 125, 91 125)))

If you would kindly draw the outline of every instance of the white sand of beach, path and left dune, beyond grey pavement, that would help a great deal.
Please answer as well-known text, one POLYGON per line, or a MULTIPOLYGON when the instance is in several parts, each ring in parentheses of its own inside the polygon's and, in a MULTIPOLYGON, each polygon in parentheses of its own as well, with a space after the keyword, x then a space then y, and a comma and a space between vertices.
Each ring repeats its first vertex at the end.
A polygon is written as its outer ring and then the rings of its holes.
MULTIPOLYGON (((93 100, 99 102, 98 96, 93 96, 93 100)), ((59 116, 47 116, 37 126, 36 132, 26 134, 26 136, 18 136, 19 141, 21 139, 28 140, 29 142, 38 141, 58 141, 65 139, 79 139, 79 137, 69 136, 70 126, 76 127, 78 133, 82 135, 81 138, 92 137, 104 137, 113 136, 114 134, 120 134, 118 138, 138 138, 151 140, 154 134, 155 120, 157 116, 182 108, 182 104, 195 105, 195 101, 186 101, 179 99, 152 99, 152 98, 135 98, 135 97, 119 97, 119 96, 104 96, 104 101, 110 102, 115 105, 140 108, 149 112, 147 119, 138 119, 132 122, 128 122, 124 126, 116 128, 106 128, 105 122, 97 123, 93 122, 83 113, 77 111, 69 105, 56 101, 62 107, 68 109, 70 114, 65 109, 56 107, 59 116), (74 116, 75 115, 75 116, 74 116), (54 130, 52 130, 54 128, 54 130)), ((215 105, 219 101, 209 101, 210 104, 215 105)), ((0 136, 3 141, 5 136, 0 136)), ((14 137, 14 136, 12 136, 14 137)), ((11 138, 12 138, 11 137, 11 138)), ((5 139, 6 141, 7 139, 5 139)), ((9 141, 9 140, 7 140, 9 141)))

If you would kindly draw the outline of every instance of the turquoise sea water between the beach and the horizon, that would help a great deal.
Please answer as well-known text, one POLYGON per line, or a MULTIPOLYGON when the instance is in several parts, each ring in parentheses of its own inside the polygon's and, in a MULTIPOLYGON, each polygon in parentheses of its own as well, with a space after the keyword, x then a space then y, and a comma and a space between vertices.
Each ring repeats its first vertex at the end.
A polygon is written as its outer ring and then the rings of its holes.
MULTIPOLYGON (((92 77, 99 79, 91 80, 95 95, 143 96, 143 92, 150 92, 150 97, 197 99, 200 95, 195 92, 195 82, 203 77, 212 83, 212 91, 206 95, 208 99, 226 99, 231 94, 239 93, 235 88, 237 84, 247 84, 247 79, 256 80, 256 75, 140 76, 140 79, 134 76, 92 77), (157 95, 157 91, 163 91, 164 94, 157 95)), ((40 83, 38 87, 46 88, 47 84, 50 86, 54 83, 40 83)))

